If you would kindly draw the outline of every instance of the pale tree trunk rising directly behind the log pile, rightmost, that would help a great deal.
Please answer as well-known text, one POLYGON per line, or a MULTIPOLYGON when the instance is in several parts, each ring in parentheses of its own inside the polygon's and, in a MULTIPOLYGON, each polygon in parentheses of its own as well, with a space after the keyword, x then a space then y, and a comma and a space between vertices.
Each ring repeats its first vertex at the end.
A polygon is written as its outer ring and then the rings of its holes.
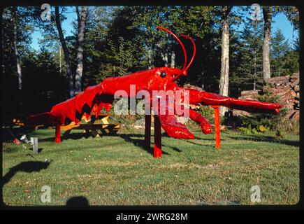
POLYGON ((270 75, 270 55, 269 55, 269 43, 271 35, 271 20, 273 17, 272 6, 263 7, 264 18, 264 35, 263 35, 263 80, 271 78, 270 75))

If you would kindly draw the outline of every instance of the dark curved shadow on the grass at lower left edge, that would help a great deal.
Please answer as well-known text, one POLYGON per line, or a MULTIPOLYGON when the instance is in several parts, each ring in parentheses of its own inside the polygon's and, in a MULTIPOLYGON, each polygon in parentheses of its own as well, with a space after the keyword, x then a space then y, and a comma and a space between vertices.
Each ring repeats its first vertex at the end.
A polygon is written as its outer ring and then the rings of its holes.
POLYGON ((12 179, 12 177, 17 174, 17 172, 38 172, 41 169, 47 169, 50 162, 40 162, 40 161, 27 161, 20 162, 20 164, 11 167, 10 170, 3 176, 2 187, 12 179))

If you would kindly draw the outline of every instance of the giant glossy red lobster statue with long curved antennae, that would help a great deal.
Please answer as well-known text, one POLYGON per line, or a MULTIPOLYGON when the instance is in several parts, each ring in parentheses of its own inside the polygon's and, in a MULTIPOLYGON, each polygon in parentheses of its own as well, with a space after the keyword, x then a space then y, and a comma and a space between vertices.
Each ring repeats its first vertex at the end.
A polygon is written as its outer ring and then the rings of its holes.
MULTIPOLYGON (((65 123, 79 123, 82 116, 89 118, 92 113, 99 114, 103 107, 106 111, 110 110, 113 104, 113 96, 117 90, 124 90, 127 92, 128 97, 136 97, 130 91, 130 85, 136 86, 135 94, 140 90, 152 92, 153 90, 172 90, 173 93, 177 90, 187 92, 189 94, 189 104, 202 104, 202 105, 219 105, 226 106, 231 109, 238 109, 248 112, 261 112, 261 113, 279 113, 280 104, 272 104, 268 102, 258 102, 254 100, 242 100, 231 97, 224 97, 219 94, 198 91, 179 87, 175 80, 179 76, 187 76, 187 70, 194 60, 196 54, 196 45, 194 41, 186 35, 181 35, 188 38, 194 47, 189 64, 187 64, 187 52, 182 44, 182 41, 168 29, 157 27, 172 34, 173 37, 180 43, 184 52, 184 66, 182 69, 160 67, 146 71, 138 71, 126 76, 106 78, 102 83, 94 86, 87 87, 85 91, 80 92, 75 97, 66 100, 60 104, 52 107, 50 112, 41 113, 38 115, 30 116, 28 118, 30 123, 34 124, 56 124, 64 125, 65 123)), ((134 93, 133 93, 134 94, 134 93)), ((153 101, 154 99, 150 99, 153 101)), ((183 102, 180 102, 182 104, 183 102)), ((168 105, 166 111, 168 112, 168 105)), ((194 139, 192 134, 185 125, 179 123, 175 114, 159 114, 157 115, 161 127, 166 131, 169 137, 178 139, 194 139)), ((194 120, 198 125, 201 125, 204 134, 211 132, 211 125, 208 121, 198 112, 189 109, 189 118, 194 120)))

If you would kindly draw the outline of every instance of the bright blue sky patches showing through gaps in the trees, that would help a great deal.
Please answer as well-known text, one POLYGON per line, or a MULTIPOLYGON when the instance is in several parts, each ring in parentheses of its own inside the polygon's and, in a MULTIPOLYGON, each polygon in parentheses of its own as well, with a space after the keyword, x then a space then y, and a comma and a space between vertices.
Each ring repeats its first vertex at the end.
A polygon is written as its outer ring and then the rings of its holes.
MULTIPOLYGON (((74 8, 68 8, 68 12, 66 13, 66 20, 62 22, 61 26, 62 29, 64 29, 64 36, 70 36, 72 35, 72 22, 76 19, 76 13, 74 8)), ((52 14, 53 15, 53 14, 52 14)), ((240 26, 242 27, 242 26, 240 26)), ((275 18, 273 18, 273 24, 272 24, 272 32, 274 33, 277 29, 282 29, 283 34, 285 38, 289 39, 289 43, 293 41, 298 36, 298 31, 293 31, 293 27, 291 26, 291 23, 287 20, 287 17, 282 14, 278 13, 275 18)), ((40 31, 34 31, 32 34, 32 43, 31 47, 35 50, 38 50, 40 48, 38 44, 38 38, 41 38, 40 31)))

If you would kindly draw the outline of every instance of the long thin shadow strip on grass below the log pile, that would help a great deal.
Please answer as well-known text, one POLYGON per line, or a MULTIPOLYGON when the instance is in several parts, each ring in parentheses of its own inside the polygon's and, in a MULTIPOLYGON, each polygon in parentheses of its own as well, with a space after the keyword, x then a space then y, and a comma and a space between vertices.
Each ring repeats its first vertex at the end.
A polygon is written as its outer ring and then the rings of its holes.
POLYGON ((249 136, 243 136, 243 137, 228 137, 229 139, 235 139, 235 140, 247 140, 247 141, 264 141, 264 142, 273 142, 277 144, 284 144, 288 146, 300 146, 300 141, 291 141, 291 140, 280 140, 275 139, 275 137, 266 137, 266 136, 256 136, 256 135, 249 135, 249 136))

